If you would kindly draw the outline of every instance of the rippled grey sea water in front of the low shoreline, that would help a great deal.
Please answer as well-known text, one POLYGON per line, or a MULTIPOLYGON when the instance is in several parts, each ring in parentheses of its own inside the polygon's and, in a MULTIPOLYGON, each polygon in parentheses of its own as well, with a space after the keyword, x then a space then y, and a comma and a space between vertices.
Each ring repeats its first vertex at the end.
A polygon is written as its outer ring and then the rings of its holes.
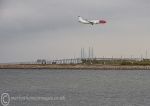
POLYGON ((150 70, 0 69, 0 106, 150 106, 150 70))

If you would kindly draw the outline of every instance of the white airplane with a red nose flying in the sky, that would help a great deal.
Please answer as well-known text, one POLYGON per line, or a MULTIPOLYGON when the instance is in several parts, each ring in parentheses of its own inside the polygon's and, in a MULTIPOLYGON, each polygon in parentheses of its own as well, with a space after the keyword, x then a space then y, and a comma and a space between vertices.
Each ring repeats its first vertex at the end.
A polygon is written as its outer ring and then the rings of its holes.
POLYGON ((105 20, 87 20, 87 19, 83 19, 81 16, 78 16, 78 21, 82 24, 105 24, 106 21, 105 20))

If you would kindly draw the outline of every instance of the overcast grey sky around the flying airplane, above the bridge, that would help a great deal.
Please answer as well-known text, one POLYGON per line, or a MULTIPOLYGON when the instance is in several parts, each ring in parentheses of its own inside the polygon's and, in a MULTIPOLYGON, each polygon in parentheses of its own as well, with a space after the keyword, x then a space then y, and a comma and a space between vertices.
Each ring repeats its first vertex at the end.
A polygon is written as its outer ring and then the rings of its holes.
POLYGON ((0 0, 0 62, 150 56, 150 0, 0 0), (82 25, 77 16, 105 19, 82 25))

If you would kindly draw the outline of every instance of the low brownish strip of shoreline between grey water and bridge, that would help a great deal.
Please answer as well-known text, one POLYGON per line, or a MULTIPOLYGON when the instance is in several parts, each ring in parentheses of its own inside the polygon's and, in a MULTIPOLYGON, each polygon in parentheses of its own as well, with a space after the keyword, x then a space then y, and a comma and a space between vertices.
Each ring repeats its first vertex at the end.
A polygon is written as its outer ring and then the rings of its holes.
POLYGON ((0 64, 0 69, 150 70, 150 65, 0 64))

